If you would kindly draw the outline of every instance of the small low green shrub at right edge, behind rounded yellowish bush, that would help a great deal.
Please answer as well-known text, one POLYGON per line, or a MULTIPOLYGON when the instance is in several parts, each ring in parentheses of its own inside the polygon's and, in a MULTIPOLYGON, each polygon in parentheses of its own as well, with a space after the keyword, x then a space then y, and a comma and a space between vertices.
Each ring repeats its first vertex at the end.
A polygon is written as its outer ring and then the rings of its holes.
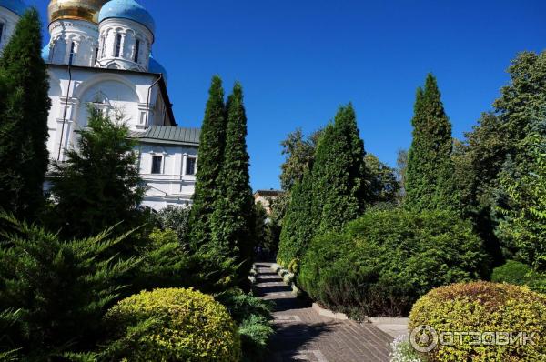
POLYGON ((546 293, 546 276, 515 260, 509 260, 503 266, 493 269, 491 281, 527 286, 535 292, 546 293))

